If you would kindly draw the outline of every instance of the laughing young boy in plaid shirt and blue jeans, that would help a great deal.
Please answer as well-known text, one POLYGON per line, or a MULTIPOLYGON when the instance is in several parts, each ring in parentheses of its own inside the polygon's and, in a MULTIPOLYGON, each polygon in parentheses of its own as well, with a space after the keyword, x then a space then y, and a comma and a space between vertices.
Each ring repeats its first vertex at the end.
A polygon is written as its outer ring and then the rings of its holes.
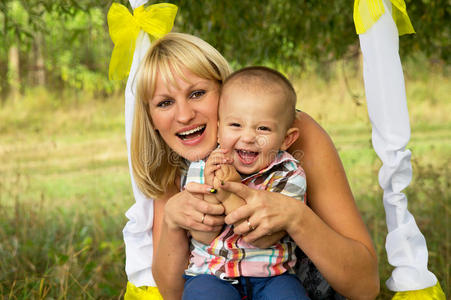
MULTIPOLYGON (((223 165, 232 163, 242 183, 304 201, 305 174, 298 162, 285 152, 299 135, 298 129, 291 127, 295 106, 296 93, 279 72, 266 67, 234 72, 221 91, 220 148, 210 154, 206 163, 191 163, 187 181, 205 180, 217 187, 217 172, 224 173, 223 165)), ((220 194, 218 189, 217 195, 220 194)), ((229 212, 226 207, 226 213, 229 212)), ((292 275, 296 245, 289 236, 281 240, 279 236, 275 245, 261 249, 234 234, 233 226, 226 226, 214 238, 217 234, 211 237, 193 234, 183 299, 211 299, 208 291, 230 300, 244 296, 308 299, 301 283, 292 275)))

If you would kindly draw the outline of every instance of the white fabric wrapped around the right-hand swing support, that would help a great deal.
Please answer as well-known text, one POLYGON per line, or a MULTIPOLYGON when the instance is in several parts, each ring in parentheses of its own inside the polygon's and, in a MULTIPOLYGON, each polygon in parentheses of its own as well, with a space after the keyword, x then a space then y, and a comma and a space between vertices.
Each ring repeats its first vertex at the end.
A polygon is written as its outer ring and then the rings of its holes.
POLYGON ((409 114, 398 31, 389 13, 390 2, 384 4, 386 13, 359 38, 373 147, 382 161, 379 183, 384 190, 388 228, 385 248, 389 263, 395 267, 387 287, 392 291, 420 290, 434 286, 437 278, 427 269, 426 240, 402 192, 412 178, 411 153, 406 149, 409 114))

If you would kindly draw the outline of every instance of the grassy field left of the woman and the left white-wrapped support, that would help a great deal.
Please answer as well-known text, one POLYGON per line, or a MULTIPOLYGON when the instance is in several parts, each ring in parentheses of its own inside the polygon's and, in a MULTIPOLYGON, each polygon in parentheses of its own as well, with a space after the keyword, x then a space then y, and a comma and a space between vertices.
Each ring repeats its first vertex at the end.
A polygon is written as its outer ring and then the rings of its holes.
POLYGON ((53 98, 38 91, 0 113, 0 299, 121 299, 122 99, 53 98))

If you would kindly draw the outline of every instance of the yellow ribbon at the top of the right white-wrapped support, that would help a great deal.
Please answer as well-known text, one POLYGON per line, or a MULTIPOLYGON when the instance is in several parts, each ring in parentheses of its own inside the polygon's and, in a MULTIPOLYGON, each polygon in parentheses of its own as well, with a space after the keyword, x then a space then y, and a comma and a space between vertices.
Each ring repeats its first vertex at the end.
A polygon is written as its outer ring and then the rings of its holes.
MULTIPOLYGON (((399 35, 415 33, 404 0, 391 0, 392 17, 399 35)), ((365 33, 385 13, 382 0, 354 0, 354 24, 357 34, 365 33)))

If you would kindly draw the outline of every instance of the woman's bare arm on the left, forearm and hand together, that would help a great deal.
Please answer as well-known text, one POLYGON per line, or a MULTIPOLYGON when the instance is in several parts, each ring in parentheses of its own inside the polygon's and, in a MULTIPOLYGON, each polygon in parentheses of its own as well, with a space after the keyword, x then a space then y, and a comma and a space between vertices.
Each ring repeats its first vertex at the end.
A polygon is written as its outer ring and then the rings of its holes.
POLYGON ((189 257, 186 230, 215 231, 224 224, 224 208, 204 201, 200 192, 206 190, 206 185, 190 183, 185 191, 155 201, 152 273, 164 299, 181 299, 183 293, 189 257))

